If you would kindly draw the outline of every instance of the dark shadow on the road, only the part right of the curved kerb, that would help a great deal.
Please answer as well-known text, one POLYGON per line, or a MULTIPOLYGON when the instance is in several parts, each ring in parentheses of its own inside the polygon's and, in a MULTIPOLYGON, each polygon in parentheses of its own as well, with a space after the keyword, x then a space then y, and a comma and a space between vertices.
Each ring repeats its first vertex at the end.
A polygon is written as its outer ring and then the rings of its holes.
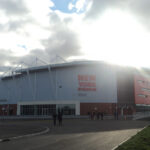
POLYGON ((86 132, 103 132, 143 128, 148 121, 132 120, 64 120, 62 126, 53 126, 51 134, 72 134, 86 132))

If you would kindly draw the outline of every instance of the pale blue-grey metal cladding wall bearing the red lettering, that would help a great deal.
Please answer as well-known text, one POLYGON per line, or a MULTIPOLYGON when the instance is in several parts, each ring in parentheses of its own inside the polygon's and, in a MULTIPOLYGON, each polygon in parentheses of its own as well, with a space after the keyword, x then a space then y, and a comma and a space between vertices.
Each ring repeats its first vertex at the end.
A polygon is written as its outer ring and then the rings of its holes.
POLYGON ((10 104, 36 100, 116 103, 116 73, 103 63, 65 63, 18 70, 16 75, 2 78, 0 99, 10 104))

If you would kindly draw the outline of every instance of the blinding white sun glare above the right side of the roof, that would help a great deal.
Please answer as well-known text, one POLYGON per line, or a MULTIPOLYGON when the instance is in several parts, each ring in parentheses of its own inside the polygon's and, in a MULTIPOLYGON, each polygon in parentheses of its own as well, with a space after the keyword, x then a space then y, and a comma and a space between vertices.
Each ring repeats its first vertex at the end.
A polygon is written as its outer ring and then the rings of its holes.
POLYGON ((120 65, 146 65, 145 57, 150 54, 150 35, 131 14, 108 10, 80 33, 82 50, 89 59, 120 65))

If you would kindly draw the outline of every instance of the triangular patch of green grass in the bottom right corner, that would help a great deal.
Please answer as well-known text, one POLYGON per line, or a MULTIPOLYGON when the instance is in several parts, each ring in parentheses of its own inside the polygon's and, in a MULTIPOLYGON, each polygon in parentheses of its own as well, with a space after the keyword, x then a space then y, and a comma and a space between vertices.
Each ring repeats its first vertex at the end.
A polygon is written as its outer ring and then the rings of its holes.
POLYGON ((150 150, 150 126, 120 145, 116 150, 150 150))

